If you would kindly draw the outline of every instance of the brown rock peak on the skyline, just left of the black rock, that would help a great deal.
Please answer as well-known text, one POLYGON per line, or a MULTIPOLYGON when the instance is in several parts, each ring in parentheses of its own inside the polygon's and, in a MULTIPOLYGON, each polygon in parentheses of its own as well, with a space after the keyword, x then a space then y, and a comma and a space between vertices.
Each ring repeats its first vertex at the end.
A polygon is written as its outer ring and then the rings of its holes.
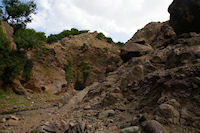
POLYGON ((176 37, 169 22, 151 22, 141 30, 138 30, 127 43, 140 43, 160 47, 169 44, 176 37))

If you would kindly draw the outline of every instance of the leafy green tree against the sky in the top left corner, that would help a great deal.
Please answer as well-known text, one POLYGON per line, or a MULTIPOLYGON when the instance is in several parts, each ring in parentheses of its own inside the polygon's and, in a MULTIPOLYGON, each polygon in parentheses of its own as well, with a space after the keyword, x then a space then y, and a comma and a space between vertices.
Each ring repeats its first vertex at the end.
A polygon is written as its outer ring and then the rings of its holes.
POLYGON ((2 18, 15 29, 25 28, 31 22, 31 14, 36 13, 36 4, 33 0, 3 0, 2 18))

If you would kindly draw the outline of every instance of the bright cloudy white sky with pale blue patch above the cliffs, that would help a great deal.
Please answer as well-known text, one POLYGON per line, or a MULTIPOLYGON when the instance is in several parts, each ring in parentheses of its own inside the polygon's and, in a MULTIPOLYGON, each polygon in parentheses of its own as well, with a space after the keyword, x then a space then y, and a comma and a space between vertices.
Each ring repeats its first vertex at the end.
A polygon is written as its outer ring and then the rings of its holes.
POLYGON ((46 35, 77 28, 103 32, 126 42, 149 22, 169 20, 173 0, 35 0, 37 14, 28 28, 46 35))

